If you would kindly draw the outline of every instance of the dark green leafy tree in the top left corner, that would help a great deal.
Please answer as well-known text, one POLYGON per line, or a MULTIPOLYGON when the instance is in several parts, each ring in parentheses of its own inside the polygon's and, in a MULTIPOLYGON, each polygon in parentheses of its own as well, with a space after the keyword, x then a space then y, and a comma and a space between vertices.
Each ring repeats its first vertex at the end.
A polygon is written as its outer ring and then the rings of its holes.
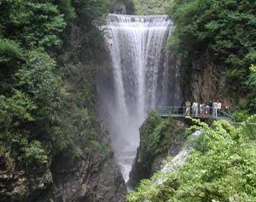
POLYGON ((51 1, 1 1, 1 33, 26 47, 60 47, 66 23, 51 1))

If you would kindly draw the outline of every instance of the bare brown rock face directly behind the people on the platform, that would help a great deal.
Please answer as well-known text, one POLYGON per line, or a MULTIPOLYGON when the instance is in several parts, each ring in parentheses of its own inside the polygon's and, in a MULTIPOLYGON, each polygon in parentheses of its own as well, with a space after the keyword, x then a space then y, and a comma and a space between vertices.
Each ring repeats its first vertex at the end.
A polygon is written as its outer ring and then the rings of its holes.
POLYGON ((209 100, 220 100, 222 110, 228 112, 231 100, 225 92, 225 77, 221 72, 223 72, 223 68, 215 65, 206 52, 193 63, 193 68, 189 72, 189 85, 186 89, 182 89, 184 97, 189 98, 192 102, 197 100, 200 103, 205 102, 205 104, 208 104, 209 100))

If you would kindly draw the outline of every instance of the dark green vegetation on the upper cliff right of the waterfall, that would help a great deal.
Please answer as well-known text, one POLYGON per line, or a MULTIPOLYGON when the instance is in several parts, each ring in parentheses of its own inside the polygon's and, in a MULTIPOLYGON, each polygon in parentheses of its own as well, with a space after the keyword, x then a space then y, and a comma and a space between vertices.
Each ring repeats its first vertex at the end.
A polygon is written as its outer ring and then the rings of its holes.
POLYGON ((227 92, 236 102, 246 97, 237 106, 249 114, 256 113, 256 91, 248 83, 249 68, 256 63, 255 10, 252 0, 174 0, 170 9, 175 23, 170 46, 182 58, 182 77, 208 52, 225 74, 227 92))

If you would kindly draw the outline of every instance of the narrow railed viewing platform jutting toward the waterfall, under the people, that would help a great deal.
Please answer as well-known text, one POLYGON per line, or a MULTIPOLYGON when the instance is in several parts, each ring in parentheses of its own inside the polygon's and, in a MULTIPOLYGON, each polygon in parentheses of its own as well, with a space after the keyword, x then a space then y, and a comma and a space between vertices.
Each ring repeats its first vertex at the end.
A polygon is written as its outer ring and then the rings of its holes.
POLYGON ((199 118, 199 119, 209 119, 212 118, 214 120, 226 120, 228 122, 236 122, 236 119, 231 116, 230 114, 227 114, 223 111, 218 111, 218 116, 214 116, 214 109, 213 107, 209 107, 210 114, 205 114, 205 107, 202 107, 202 114, 200 114, 201 107, 197 107, 198 113, 193 113, 193 107, 167 107, 167 106, 157 106, 156 112, 161 117, 186 117, 190 116, 192 118, 199 118), (186 109, 189 108, 189 115, 185 114, 186 109))

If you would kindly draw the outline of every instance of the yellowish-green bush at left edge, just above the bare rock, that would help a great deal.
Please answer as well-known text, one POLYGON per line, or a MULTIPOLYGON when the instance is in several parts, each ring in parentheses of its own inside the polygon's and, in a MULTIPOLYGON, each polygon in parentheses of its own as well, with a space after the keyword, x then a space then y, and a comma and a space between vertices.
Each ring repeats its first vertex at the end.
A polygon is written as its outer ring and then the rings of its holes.
MULTIPOLYGON (((26 127, 35 121, 31 114, 36 105, 30 98, 13 89, 13 95, 0 96, 0 146, 10 153, 17 166, 26 168, 47 162, 47 155, 38 141, 28 141, 31 132, 26 127)), ((3 152, 3 151, 1 151, 3 152)))

